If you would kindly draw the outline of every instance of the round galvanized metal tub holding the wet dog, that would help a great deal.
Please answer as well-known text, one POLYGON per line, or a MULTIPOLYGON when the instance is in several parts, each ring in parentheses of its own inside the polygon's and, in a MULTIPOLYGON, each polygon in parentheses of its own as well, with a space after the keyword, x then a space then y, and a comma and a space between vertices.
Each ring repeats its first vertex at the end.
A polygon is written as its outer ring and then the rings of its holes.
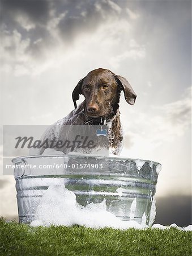
POLYGON ((15 164, 19 222, 34 220, 42 195, 57 179, 75 193, 77 202, 83 206, 105 199, 109 212, 129 221, 131 204, 136 198, 132 219, 140 224, 146 216, 147 225, 154 221, 152 204, 161 169, 159 163, 91 155, 24 156, 12 162, 15 164), (99 168, 101 165, 103 168, 99 168))

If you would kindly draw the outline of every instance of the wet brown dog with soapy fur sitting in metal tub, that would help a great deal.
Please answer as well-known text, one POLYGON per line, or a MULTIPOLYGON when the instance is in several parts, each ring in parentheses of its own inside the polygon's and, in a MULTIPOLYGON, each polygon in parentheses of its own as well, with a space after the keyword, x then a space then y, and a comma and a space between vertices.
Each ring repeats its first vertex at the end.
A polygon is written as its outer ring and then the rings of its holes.
MULTIPOLYGON (((123 91, 127 103, 133 105, 136 94, 124 77, 115 75, 109 69, 103 68, 89 72, 86 77, 78 82, 72 92, 75 109, 65 118, 58 120, 49 127, 42 135, 41 141, 66 138, 65 129, 67 126, 84 125, 88 128, 101 126, 100 131, 97 129, 97 137, 100 139, 108 133, 109 152, 115 155, 120 154, 123 141, 119 111, 121 91, 123 91), (84 96, 85 100, 77 106, 76 101, 79 100, 80 94, 84 96), (106 129, 103 129, 103 127, 106 129)), ((69 130, 67 130, 67 133, 69 133, 69 130)), ((85 133, 87 133, 87 130, 85 133)), ((106 144, 104 138, 102 139, 103 142, 99 142, 101 147, 106 144)), ((48 145, 41 147, 38 154, 41 155, 48 147, 48 145)), ((63 151, 65 154, 69 152, 66 147, 55 149, 63 151)), ((89 153, 91 152, 92 150, 89 150, 89 153)))

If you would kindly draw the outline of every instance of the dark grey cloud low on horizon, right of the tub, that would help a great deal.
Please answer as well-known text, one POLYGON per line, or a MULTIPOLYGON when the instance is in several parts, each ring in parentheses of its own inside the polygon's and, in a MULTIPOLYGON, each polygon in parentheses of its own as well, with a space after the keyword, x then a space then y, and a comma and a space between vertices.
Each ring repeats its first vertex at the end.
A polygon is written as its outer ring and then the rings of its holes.
POLYGON ((178 226, 191 224, 191 196, 168 196, 156 199, 155 223, 178 226))

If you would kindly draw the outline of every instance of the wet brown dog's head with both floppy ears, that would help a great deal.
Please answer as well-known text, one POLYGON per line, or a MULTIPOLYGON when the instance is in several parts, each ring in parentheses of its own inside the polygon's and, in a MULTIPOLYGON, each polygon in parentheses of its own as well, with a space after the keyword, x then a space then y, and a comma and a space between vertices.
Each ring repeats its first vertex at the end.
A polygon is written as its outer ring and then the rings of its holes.
POLYGON ((119 107, 120 93, 123 90, 125 100, 130 105, 135 103, 136 94, 129 82, 108 69, 95 69, 78 82, 72 92, 76 108, 79 94, 86 98, 86 115, 88 117, 109 117, 115 115, 119 107))

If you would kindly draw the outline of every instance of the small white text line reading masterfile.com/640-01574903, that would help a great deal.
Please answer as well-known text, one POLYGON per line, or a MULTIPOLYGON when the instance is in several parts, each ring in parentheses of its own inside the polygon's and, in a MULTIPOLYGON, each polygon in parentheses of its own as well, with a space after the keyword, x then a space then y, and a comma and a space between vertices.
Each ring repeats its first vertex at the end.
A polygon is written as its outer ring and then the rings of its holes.
POLYGON ((6 169, 102 169, 103 163, 72 163, 71 165, 66 163, 53 163, 53 164, 6 164, 6 169))

